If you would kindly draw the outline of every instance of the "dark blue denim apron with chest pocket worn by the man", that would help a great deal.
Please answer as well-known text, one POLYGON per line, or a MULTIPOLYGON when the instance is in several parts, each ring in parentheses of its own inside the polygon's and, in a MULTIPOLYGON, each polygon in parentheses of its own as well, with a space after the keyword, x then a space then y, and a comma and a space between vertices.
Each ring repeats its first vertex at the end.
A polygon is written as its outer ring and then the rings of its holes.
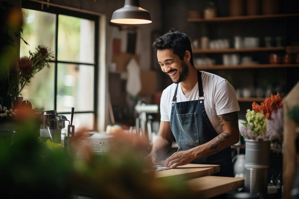
MULTIPOLYGON (((178 151, 192 149, 205 144, 219 135, 213 128, 205 112, 205 97, 202 89, 202 76, 197 71, 199 98, 193 101, 176 102, 178 85, 173 96, 170 115, 170 128, 179 144, 178 151)), ((220 172, 216 176, 234 177, 231 160, 231 147, 193 160, 195 164, 219 164, 220 172)))

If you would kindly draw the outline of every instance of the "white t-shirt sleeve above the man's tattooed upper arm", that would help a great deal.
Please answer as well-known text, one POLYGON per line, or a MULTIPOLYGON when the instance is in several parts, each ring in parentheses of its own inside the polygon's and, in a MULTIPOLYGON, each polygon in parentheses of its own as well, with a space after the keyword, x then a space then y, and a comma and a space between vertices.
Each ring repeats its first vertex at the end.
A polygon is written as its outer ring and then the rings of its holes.
POLYGON ((235 89, 227 80, 223 80, 216 87, 214 100, 217 115, 240 110, 235 89))

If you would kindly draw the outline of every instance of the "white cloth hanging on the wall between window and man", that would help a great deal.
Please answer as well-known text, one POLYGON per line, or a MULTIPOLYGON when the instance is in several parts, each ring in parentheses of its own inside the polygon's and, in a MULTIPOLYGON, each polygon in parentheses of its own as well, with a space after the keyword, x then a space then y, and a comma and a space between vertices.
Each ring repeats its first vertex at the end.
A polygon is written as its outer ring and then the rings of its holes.
POLYGON ((141 90, 141 79, 140 79, 140 67, 134 58, 132 58, 129 61, 127 65, 127 71, 128 71, 128 81, 126 84, 126 91, 130 95, 136 96, 138 92, 140 92, 141 90))

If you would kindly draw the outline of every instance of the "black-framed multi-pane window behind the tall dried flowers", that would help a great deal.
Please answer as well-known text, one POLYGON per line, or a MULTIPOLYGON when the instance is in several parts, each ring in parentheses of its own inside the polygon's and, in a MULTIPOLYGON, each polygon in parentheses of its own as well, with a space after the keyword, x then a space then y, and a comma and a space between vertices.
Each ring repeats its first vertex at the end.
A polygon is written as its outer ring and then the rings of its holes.
POLYGON ((96 129, 97 111, 97 26, 99 16, 57 7, 38 10, 38 4, 23 3, 25 16, 20 56, 29 56, 39 44, 55 53, 50 69, 45 67, 32 78, 21 94, 35 108, 56 110, 73 124, 96 129), (30 8, 30 9, 28 9, 30 8))

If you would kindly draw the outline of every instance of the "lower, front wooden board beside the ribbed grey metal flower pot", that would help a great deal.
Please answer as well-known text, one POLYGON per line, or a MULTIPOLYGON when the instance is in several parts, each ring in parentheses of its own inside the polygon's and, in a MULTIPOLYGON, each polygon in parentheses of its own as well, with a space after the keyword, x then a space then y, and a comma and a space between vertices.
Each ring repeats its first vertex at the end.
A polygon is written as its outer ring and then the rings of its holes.
POLYGON ((204 176, 188 180, 191 190, 201 198, 211 198, 244 187, 244 178, 204 176))

